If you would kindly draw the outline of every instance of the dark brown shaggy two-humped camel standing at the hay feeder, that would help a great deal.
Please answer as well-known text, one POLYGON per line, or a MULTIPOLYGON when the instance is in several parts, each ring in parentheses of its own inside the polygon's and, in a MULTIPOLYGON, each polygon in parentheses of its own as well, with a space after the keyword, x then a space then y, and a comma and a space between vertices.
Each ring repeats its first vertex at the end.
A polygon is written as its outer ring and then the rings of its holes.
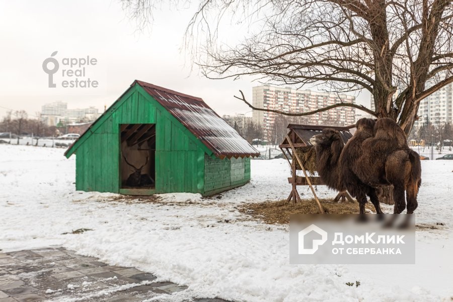
POLYGON ((375 188, 389 184, 394 186, 394 213, 406 208, 405 190, 407 212, 412 213, 417 207, 421 165, 418 154, 408 147, 403 130, 387 118, 378 122, 363 118, 357 121, 356 128, 353 137, 341 148, 331 147, 336 135, 342 141, 333 129, 324 129, 312 138, 316 143, 318 173, 326 183, 332 180, 329 187, 346 188, 356 197, 361 214, 364 214, 366 195, 376 213, 382 213, 375 188), (329 133, 331 137, 327 137, 329 133))

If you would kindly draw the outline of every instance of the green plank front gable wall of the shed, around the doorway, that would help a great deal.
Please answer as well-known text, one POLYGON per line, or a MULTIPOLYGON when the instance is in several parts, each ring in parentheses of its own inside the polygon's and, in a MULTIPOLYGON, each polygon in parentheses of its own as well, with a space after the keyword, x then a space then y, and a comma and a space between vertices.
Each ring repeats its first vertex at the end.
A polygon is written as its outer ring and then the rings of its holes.
POLYGON ((118 193, 120 124, 156 123, 156 193, 204 193, 204 151, 149 98, 130 94, 79 147, 77 190, 118 193))

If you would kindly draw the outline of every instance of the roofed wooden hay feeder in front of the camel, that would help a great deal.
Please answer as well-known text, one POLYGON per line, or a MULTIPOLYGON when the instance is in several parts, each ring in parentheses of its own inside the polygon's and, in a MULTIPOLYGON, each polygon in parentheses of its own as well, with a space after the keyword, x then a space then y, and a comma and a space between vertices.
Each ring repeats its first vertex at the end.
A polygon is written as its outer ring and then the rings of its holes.
MULTIPOLYGON (((291 167, 291 177, 288 177, 288 182, 292 185, 291 193, 286 199, 288 202, 293 200, 294 202, 300 201, 299 193, 297 192, 297 186, 310 186, 315 200, 318 202, 320 211, 324 213, 324 209, 316 196, 314 185, 324 185, 323 180, 319 176, 315 176, 316 171, 316 154, 315 148, 310 143, 310 138, 313 135, 320 134, 325 128, 333 128, 338 130, 346 143, 351 137, 352 133, 350 129, 354 126, 349 127, 333 127, 333 126, 313 126, 313 125, 298 125, 289 124, 288 134, 286 135, 283 142, 279 145, 284 157, 288 161, 291 167), (290 158, 289 158, 290 155, 290 158), (298 176, 296 171, 302 171, 304 176, 298 176), (310 174, 308 174, 308 173, 310 174)), ((347 191, 339 192, 334 199, 334 202, 348 199, 353 201, 352 197, 347 191)))

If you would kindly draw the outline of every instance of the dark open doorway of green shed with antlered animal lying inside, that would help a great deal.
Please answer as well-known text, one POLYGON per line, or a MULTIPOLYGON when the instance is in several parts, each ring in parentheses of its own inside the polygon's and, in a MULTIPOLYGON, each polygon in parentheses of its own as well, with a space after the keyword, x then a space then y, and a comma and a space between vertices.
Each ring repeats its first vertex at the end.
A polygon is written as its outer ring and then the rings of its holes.
POLYGON ((156 124, 121 124, 120 132, 121 189, 154 189, 156 124))

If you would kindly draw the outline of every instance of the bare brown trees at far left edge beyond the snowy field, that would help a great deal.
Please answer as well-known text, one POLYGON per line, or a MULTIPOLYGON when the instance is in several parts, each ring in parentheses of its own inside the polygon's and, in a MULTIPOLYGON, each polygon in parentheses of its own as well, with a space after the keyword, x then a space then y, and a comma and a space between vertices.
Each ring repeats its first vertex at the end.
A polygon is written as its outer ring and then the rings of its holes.
MULTIPOLYGON (((41 120, 41 114, 37 113, 35 118, 29 118, 25 110, 8 111, 0 121, 0 132, 11 132, 15 135, 35 136, 36 143, 39 137, 54 136, 55 126, 47 126, 41 120)), ((19 137, 17 138, 19 143, 19 137)))

